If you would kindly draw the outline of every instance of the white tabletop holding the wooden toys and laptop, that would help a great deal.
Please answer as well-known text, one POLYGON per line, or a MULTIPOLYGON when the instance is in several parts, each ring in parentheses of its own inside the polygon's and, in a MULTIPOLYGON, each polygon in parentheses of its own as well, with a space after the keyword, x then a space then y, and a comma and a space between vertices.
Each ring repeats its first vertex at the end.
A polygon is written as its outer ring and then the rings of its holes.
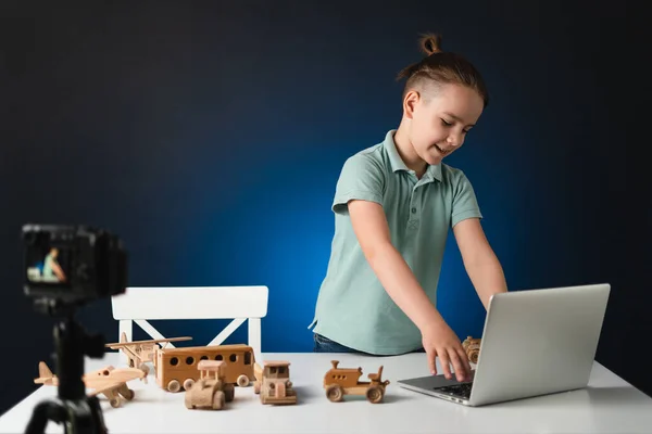
MULTIPOLYGON (((100 397, 106 426, 114 433, 650 433, 652 398, 598 362, 589 387, 537 398, 471 408, 399 387, 397 380, 427 375, 423 354, 368 357, 351 354, 264 354, 267 360, 289 360, 290 378, 299 403, 268 406, 260 403, 253 387, 236 387, 236 398, 221 411, 188 410, 184 393, 172 394, 156 386, 129 382, 136 392, 131 401, 112 408, 100 397), (385 366, 390 380, 385 401, 371 404, 346 396, 330 403, 322 386, 330 360, 341 368, 362 367, 363 378, 385 366)), ((116 353, 103 360, 87 359, 86 370, 105 365, 124 366, 116 353)), ((35 374, 36 374, 35 366, 35 374)), ((36 376, 36 375, 35 375, 36 376)), ((25 379, 30 381, 32 379, 25 379)), ((53 386, 42 386, 0 418, 1 433, 24 432, 34 406, 55 396, 53 386)), ((50 422, 48 433, 63 427, 50 422)))

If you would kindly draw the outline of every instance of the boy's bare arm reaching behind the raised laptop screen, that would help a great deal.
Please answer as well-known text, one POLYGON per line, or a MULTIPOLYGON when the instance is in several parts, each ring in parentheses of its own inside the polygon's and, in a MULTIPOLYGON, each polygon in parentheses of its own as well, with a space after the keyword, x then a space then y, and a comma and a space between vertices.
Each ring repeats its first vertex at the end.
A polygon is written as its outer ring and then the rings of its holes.
POLYGON ((507 292, 507 283, 500 261, 485 237, 479 219, 468 218, 460 221, 453 227, 453 233, 462 254, 464 268, 487 309, 493 294, 507 292))

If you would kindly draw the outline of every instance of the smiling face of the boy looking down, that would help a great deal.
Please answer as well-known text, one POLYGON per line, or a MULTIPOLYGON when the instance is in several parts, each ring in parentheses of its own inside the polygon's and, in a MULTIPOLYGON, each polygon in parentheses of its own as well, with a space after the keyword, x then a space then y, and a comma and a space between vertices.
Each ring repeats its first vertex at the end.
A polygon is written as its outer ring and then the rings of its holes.
POLYGON ((416 97, 412 105, 410 141, 423 161, 437 165, 464 143, 482 114, 484 101, 461 85, 443 85, 431 92, 427 99, 416 97))

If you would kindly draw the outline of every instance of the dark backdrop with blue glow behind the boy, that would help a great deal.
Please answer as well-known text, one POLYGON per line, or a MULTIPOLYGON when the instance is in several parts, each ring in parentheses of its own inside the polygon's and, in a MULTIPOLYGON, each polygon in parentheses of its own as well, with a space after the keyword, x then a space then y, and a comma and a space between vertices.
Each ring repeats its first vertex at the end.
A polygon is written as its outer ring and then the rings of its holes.
MULTIPOLYGON (((639 368, 651 207, 631 175, 625 2, 1 8, 0 411, 52 352, 52 319, 22 290, 28 221, 120 234, 129 285, 265 284, 263 350, 311 350, 339 170, 398 127, 394 77, 421 59, 424 31, 488 84, 489 107, 447 162, 474 183, 510 289, 611 283, 597 359, 652 392, 639 368)), ((439 308, 461 339, 479 335, 485 310, 448 244, 439 308)), ((117 340, 108 299, 79 319, 117 340)), ((223 324, 155 326, 205 344, 223 324)))

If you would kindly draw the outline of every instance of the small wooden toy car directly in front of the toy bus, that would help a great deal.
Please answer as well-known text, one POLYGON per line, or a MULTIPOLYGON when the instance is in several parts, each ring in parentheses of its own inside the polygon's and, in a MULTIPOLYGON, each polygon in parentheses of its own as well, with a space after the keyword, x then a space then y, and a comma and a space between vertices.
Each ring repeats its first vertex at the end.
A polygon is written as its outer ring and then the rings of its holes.
POLYGON ((186 407, 222 410, 234 400, 235 386, 226 382, 226 363, 222 360, 201 360, 197 363, 200 378, 186 391, 186 407))

